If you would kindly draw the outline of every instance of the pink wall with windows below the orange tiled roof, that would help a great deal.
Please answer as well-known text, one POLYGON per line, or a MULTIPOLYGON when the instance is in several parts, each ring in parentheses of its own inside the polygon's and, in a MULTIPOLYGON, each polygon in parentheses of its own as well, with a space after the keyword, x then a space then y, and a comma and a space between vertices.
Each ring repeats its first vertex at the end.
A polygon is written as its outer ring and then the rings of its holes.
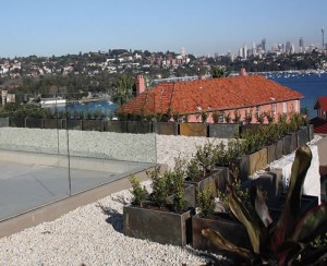
MULTIPOLYGON (((275 121, 278 120, 278 116, 281 113, 289 113, 291 111, 300 112, 300 100, 289 100, 289 101, 282 101, 282 102, 274 102, 276 105, 276 112, 275 112, 275 121)), ((271 111, 272 110, 272 105, 274 104, 268 104, 268 105, 261 105, 261 106, 253 106, 253 107, 247 107, 247 108, 239 108, 238 111, 241 114, 241 121, 244 121, 245 118, 245 110, 250 112, 252 109, 252 123, 257 123, 257 120, 255 118, 255 112, 257 111, 257 107, 259 107, 259 112, 266 112, 266 111, 271 111)), ((230 113, 231 121, 234 119, 234 109, 231 110, 225 110, 225 113, 230 113)), ((202 117, 201 113, 196 114, 190 114, 189 116, 189 122, 202 122, 202 117)), ((213 123, 213 112, 208 112, 208 118, 207 118, 207 123, 213 123)), ((267 118, 265 117, 264 123, 268 123, 267 118)))

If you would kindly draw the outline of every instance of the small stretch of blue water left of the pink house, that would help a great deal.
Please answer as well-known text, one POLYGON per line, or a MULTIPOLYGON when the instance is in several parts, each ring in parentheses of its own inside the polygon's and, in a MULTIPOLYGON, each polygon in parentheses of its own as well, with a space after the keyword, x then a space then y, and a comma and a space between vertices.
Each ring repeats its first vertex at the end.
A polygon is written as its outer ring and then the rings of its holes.
POLYGON ((90 111, 99 111, 100 113, 105 113, 105 117, 114 116, 114 111, 117 109, 117 105, 112 104, 108 100, 97 100, 97 101, 87 101, 87 102, 76 102, 76 104, 68 104, 68 105, 60 105, 57 107, 58 111, 69 111, 72 116, 75 111, 80 112, 83 111, 84 117, 86 113, 90 111))

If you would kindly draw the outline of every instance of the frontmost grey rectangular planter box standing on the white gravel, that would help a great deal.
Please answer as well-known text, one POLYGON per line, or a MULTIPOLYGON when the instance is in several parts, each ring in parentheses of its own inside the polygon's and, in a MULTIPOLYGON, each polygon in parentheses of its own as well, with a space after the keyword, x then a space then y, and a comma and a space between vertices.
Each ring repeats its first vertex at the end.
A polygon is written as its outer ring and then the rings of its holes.
POLYGON ((192 239, 192 215, 193 210, 175 214, 128 205, 123 207, 123 232, 136 239, 184 246, 192 239))

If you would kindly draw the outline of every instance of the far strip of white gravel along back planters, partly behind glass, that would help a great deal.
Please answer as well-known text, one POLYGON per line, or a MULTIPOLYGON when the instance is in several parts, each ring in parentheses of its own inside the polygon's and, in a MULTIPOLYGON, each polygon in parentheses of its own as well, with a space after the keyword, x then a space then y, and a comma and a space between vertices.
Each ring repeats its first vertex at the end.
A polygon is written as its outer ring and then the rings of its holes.
MULTIPOLYGON (((0 128, 0 148, 45 154, 68 154, 140 162, 174 165, 181 153, 190 158, 196 145, 222 140, 157 134, 119 134, 77 130, 0 128)), ((227 141, 227 140, 223 140, 227 141)))

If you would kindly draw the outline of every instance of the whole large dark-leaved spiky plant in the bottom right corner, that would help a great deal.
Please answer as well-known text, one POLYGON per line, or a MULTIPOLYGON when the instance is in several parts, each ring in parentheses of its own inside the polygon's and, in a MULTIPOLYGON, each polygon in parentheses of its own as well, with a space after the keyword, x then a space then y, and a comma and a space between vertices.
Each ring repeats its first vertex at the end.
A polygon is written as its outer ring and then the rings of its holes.
POLYGON ((203 229, 202 234, 208 238, 218 249, 241 257, 245 263, 268 263, 269 265, 310 265, 326 263, 327 245, 313 246, 312 242, 326 233, 327 203, 307 211, 300 217, 301 189, 312 153, 308 146, 296 150, 292 165, 290 188, 284 208, 276 225, 269 216, 268 207, 259 189, 255 188, 252 211, 237 196, 231 186, 228 188, 228 204, 232 214, 246 228, 252 250, 235 246, 211 230, 203 229))

